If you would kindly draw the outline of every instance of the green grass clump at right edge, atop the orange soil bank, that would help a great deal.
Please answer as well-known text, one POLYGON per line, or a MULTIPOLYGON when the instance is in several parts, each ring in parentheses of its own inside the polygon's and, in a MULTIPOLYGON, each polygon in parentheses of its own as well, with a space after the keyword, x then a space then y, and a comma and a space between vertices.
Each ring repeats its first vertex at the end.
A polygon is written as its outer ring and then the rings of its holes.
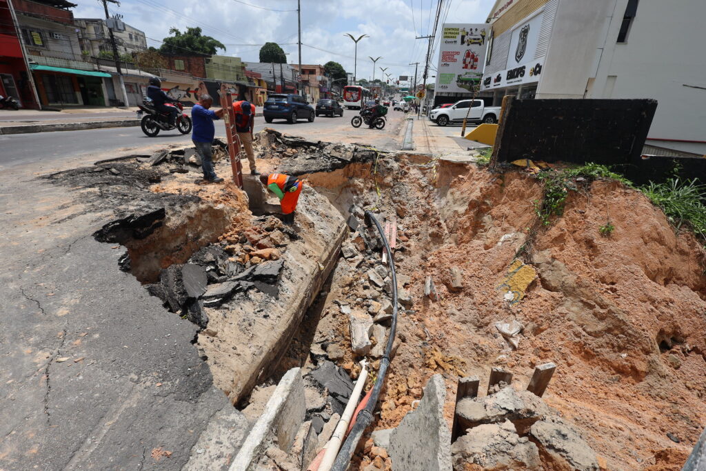
POLYGON ((686 222, 695 234, 706 239, 706 185, 699 184, 696 179, 672 177, 664 183, 650 182, 640 190, 654 205, 662 208, 677 229, 686 222))

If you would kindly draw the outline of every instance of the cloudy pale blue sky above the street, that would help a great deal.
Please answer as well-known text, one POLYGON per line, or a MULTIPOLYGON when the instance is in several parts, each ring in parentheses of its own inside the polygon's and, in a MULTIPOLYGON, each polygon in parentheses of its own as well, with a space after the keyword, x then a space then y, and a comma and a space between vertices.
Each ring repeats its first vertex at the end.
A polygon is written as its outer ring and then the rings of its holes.
MULTIPOLYGON (((102 18, 99 0, 72 0, 76 18, 102 18)), ((301 0, 301 63, 340 63, 354 71, 354 37, 369 35, 358 43, 357 78, 382 78, 381 68, 391 77, 414 75, 419 62, 421 77, 427 40, 431 35, 438 0, 301 0)), ((445 23, 484 23, 493 0, 443 0, 441 18, 445 23), (445 14, 444 14, 445 13, 445 14)), ((159 47, 169 36, 169 28, 199 26, 204 35, 215 37, 226 46, 218 54, 238 56, 257 62, 265 42, 277 42, 296 64, 297 0, 121 0, 109 4, 111 15, 120 13, 128 25, 143 30, 148 45, 159 47), (259 7, 259 8, 258 8, 259 7)), ((442 21, 440 20, 439 28, 442 21)), ((436 75, 438 47, 434 49, 429 76, 436 75)), ((432 78, 429 81, 433 81, 432 78)))

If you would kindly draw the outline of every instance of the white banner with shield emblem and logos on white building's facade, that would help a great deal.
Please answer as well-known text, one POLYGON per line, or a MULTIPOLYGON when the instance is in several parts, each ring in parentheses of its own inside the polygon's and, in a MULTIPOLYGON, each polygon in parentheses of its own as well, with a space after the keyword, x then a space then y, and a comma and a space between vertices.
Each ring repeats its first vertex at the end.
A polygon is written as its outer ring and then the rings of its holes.
POLYGON ((510 49, 505 70, 483 78, 481 90, 539 82, 544 66, 544 57, 534 59, 537 38, 542 28, 543 14, 520 21, 510 36, 510 49))

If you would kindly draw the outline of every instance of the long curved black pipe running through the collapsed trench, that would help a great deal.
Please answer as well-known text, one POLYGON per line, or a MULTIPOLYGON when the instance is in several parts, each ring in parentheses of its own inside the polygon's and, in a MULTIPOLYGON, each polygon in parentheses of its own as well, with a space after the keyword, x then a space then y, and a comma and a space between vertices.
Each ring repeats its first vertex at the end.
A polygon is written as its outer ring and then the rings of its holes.
POLYGON ((390 364, 390 352, 393 350, 393 343, 395 342, 395 333, 397 330, 397 275, 395 275, 395 258, 393 257, 393 252, 390 250, 388 239, 385 238, 385 233, 383 232, 383 228, 380 226, 378 220, 370 211, 366 211, 365 215, 378 228, 378 234, 380 234, 381 239, 383 239, 385 250, 388 252, 388 258, 390 260, 390 275, 393 280, 393 322, 390 325, 390 336, 388 337, 388 345, 385 347, 385 354, 380 360, 380 369, 378 370, 378 378, 375 380, 375 384, 373 385, 373 393, 370 395, 365 408, 358 412, 355 425, 353 426, 351 433, 348 434, 343 446, 341 446, 331 471, 345 471, 347 469, 353 456, 353 452, 355 451, 361 436, 363 436, 363 432, 373 422, 373 410, 378 403, 380 391, 385 383, 385 377, 388 373, 388 365, 390 364))

